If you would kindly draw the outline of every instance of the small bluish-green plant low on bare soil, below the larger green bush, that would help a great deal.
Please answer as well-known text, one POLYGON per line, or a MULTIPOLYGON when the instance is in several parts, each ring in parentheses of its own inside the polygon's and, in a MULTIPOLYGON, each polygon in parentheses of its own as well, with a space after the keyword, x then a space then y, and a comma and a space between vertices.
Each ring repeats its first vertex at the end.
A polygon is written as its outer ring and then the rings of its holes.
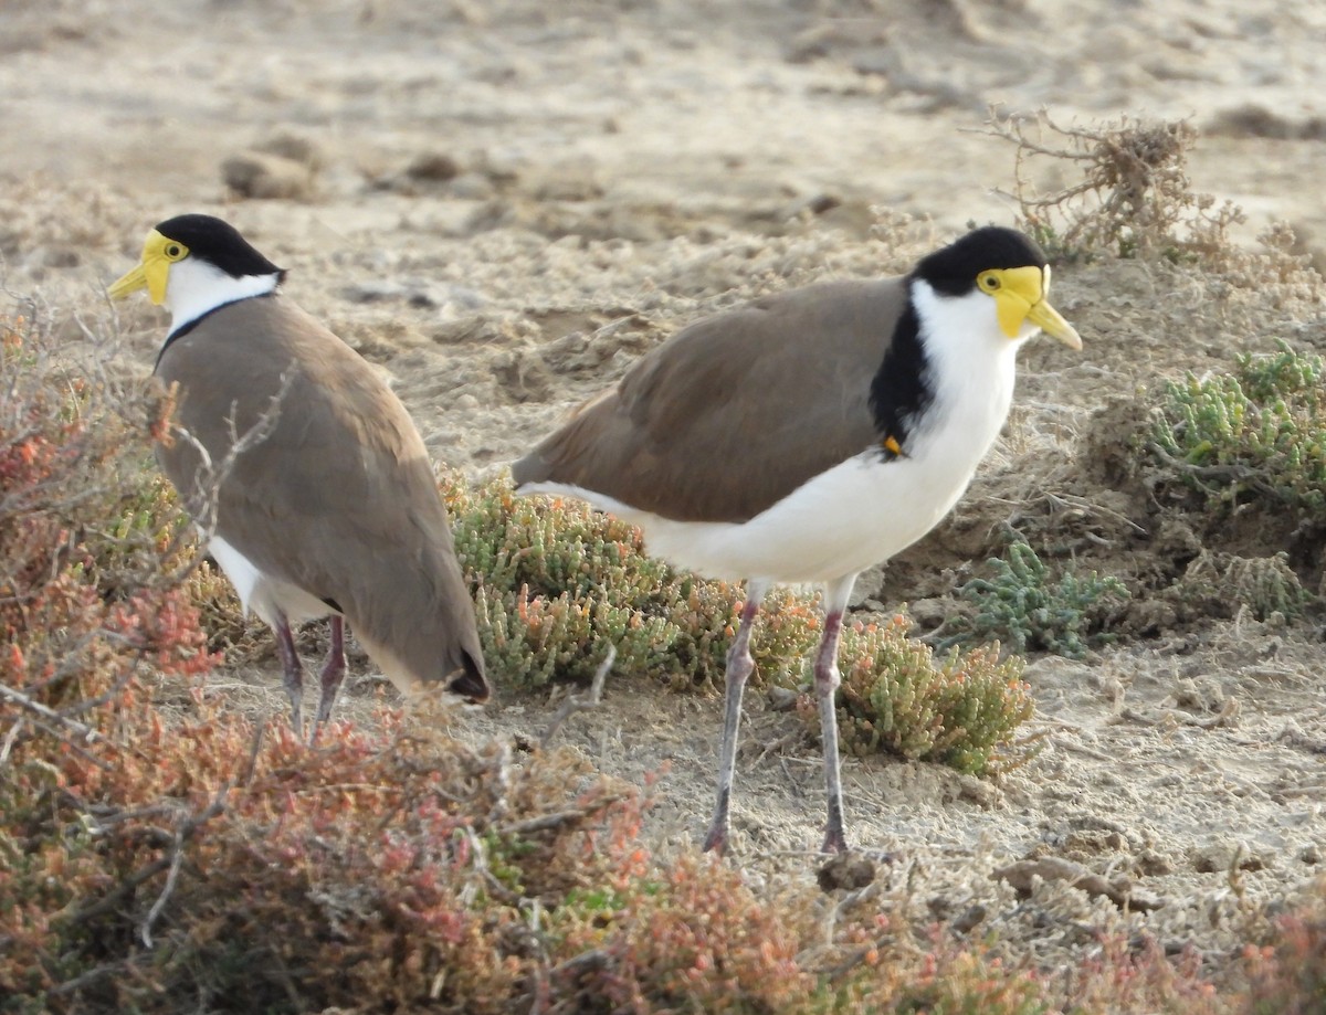
POLYGON ((1081 659, 1091 644, 1109 641, 1102 624, 1109 610, 1128 598, 1127 586, 1113 575, 1065 570, 1053 576, 1021 539, 987 567, 992 578, 973 578, 959 590, 975 612, 955 619, 957 633, 945 645, 998 637, 1014 652, 1044 649, 1081 659))

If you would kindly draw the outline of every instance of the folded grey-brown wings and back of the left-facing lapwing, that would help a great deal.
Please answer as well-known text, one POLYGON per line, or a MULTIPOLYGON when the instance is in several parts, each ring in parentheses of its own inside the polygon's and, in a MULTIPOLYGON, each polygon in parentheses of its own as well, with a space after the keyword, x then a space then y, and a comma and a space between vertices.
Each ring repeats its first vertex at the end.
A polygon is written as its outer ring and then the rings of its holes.
MULTIPOLYGON (((216 534, 261 571, 335 603, 423 681, 483 674, 473 604, 427 449, 399 399, 349 346, 281 297, 215 311, 172 342, 156 375, 179 421, 220 461, 281 390, 271 435, 217 498, 216 534)), ((180 490, 199 456, 159 453, 180 490)), ((196 507, 196 505, 195 505, 196 507)))

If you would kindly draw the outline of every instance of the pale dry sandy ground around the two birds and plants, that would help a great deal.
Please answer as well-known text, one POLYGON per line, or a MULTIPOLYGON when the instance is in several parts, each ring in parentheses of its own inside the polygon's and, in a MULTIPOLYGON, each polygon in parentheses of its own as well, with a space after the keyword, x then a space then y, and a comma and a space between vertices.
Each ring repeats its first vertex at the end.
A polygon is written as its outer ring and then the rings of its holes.
MULTIPOLYGON (((703 313, 903 270, 971 220, 1010 223, 997 191, 1013 150, 983 130, 991 103, 1063 123, 1191 118, 1193 187, 1246 209, 1241 239, 1288 220, 1321 262, 1323 37, 1314 0, 1265 15, 1235 0, 9 0, 3 285, 69 342, 118 330, 115 367, 143 374, 162 319, 146 301, 107 306, 101 286, 156 221, 223 215, 390 375, 438 458, 477 477, 703 313), (300 154, 290 138, 312 158, 273 163, 300 154), (240 196, 227 174, 284 196, 240 196)), ((1062 530, 1069 553, 1126 575, 1176 553, 1136 497, 1093 478, 1110 443, 1097 409, 1225 370, 1270 334, 1326 346, 1319 303, 1215 313, 1180 282, 1136 262, 1057 274, 1086 350, 1026 350, 967 500, 858 599, 943 614, 1004 523, 1062 530)), ((1219 962, 1319 875, 1318 628, 1237 615, 1122 633, 1083 663, 1030 661, 1044 750, 997 780, 846 762, 850 836, 892 855, 882 905, 976 914, 1048 962, 1102 930, 1219 962), (992 876, 1045 856, 1127 879, 1146 912, 1062 882, 1021 898, 992 876)), ((271 660, 219 677, 281 712, 274 682, 271 660)), ((365 682, 346 714, 370 714, 371 696, 365 682)), ((752 698, 732 861, 810 877, 818 749, 752 698)), ((552 712, 508 694, 465 735, 538 731, 552 712)), ((663 773, 648 835, 666 851, 703 833, 719 726, 716 700, 618 674, 562 735, 605 771, 663 773)))

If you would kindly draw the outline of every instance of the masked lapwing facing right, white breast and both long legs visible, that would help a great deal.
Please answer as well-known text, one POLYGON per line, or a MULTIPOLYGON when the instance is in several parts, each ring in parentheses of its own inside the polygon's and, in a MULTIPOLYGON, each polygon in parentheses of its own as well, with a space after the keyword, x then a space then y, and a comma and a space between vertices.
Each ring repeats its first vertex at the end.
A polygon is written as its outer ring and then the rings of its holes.
POLYGON ((644 355, 513 465, 520 493, 582 498, 638 525, 646 550, 674 564, 747 579, 705 849, 727 845, 751 628, 780 582, 825 590, 822 848, 847 848, 834 692, 853 583, 961 497, 1008 416, 1024 339, 1045 331, 1082 347, 1049 288, 1026 237, 985 227, 902 278, 764 297, 644 355))

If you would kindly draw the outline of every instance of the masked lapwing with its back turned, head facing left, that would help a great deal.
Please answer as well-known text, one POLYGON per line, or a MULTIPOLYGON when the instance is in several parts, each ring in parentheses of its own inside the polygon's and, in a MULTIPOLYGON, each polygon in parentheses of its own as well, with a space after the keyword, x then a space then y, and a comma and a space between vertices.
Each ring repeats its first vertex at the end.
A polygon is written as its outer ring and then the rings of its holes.
POLYGON ((245 611, 274 631, 297 731, 290 624, 328 615, 314 731, 345 678, 346 620, 407 698, 484 701, 473 603, 424 443, 373 367, 281 294, 284 278, 233 227, 182 215, 110 286, 113 298, 146 289, 171 314, 155 368, 178 399, 162 469, 245 611))

